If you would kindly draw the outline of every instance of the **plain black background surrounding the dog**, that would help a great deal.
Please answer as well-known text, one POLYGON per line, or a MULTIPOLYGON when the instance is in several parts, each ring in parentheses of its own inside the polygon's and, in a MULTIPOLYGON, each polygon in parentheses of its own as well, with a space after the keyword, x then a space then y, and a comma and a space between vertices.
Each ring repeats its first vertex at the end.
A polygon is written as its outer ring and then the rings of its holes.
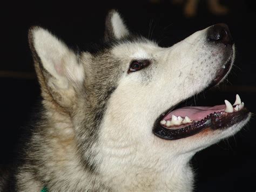
MULTIPOLYGON (((10 164, 14 157, 22 127, 27 125, 32 109, 39 101, 39 85, 35 78, 28 46, 28 29, 41 25, 55 33, 71 47, 86 47, 99 42, 104 34, 104 19, 110 9, 117 9, 131 31, 159 42, 172 44, 215 23, 226 23, 237 45, 237 59, 228 83, 205 94, 205 105, 224 104, 239 93, 245 106, 256 112, 256 13, 255 1, 220 1, 229 12, 214 15, 201 0, 197 15, 185 17, 182 5, 171 1, 94 1, 37 4, 9 3, 1 10, 0 65, 0 163, 10 164)), ((192 159, 196 172, 196 191, 255 191, 256 121, 237 135, 219 142, 192 159)))

